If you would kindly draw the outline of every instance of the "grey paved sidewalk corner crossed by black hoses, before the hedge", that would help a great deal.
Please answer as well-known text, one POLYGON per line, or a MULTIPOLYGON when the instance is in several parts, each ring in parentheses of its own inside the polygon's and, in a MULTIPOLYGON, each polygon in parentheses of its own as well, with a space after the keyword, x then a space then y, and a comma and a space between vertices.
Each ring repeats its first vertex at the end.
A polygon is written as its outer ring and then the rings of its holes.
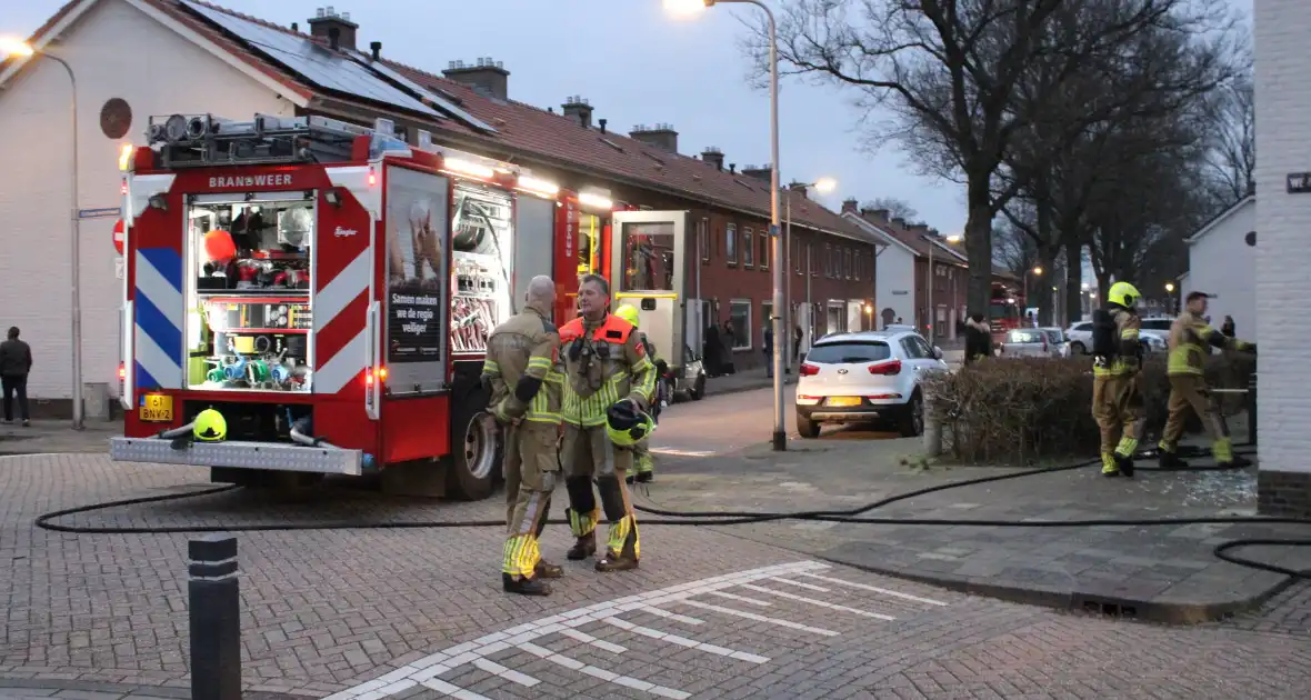
MULTIPOLYGON (((916 463, 916 440, 846 433, 793 440, 789 452, 750 448, 661 469, 645 493, 676 511, 852 509, 889 496, 1019 469, 916 463)), ((1106 480, 1096 467, 903 501, 869 514, 941 520, 1088 520, 1255 515, 1255 469, 1141 472, 1106 480)), ((1234 539, 1311 537, 1311 526, 1181 524, 1017 528, 838 524, 785 520, 733 526, 734 535, 868 570, 1054 607, 1101 606, 1171 621, 1214 619, 1259 603, 1280 574, 1223 562, 1234 539)), ((1253 547, 1257 560, 1311 570, 1311 548, 1253 547)))

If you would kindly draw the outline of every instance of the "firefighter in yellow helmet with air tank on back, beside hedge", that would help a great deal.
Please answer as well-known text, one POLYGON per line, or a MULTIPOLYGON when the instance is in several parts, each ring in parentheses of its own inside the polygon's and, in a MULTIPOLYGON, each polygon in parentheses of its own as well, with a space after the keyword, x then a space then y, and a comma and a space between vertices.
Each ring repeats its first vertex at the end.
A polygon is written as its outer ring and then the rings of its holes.
POLYGON ((1092 416, 1101 430, 1103 476, 1134 476, 1134 451, 1143 430, 1142 321, 1135 307, 1142 295, 1127 282, 1106 294, 1109 308, 1092 315, 1092 416))

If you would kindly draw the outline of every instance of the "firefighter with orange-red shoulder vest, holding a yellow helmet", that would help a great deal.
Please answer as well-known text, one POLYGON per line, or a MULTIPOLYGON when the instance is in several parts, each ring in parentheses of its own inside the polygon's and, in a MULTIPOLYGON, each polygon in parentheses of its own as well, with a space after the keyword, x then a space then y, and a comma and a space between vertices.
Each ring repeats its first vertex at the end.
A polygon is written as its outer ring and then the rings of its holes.
POLYGON ((568 556, 578 561, 597 552, 598 513, 591 488, 595 478, 600 507, 610 522, 606 552, 597 560, 597 570, 624 572, 637 568, 641 547, 624 485, 636 440, 624 430, 632 426, 623 423, 645 416, 656 391, 656 366, 633 324, 608 313, 606 278, 582 277, 578 307, 582 316, 560 329, 565 375, 561 460, 569 492, 569 524, 577 537, 568 556), (616 425, 611 425, 612 418, 616 425))

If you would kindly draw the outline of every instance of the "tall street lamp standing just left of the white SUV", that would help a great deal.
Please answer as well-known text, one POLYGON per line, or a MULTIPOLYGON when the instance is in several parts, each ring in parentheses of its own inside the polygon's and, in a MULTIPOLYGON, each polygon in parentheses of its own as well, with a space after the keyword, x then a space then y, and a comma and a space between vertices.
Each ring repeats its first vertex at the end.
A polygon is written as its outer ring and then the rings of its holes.
MULTIPOLYGON (((671 14, 691 16, 717 3, 746 3, 764 10, 770 31, 770 237, 773 239, 773 260, 783 261, 783 236, 779 231, 779 25, 773 10, 763 0, 665 0, 665 9, 671 14)), ((773 450, 788 448, 788 427, 783 416, 783 266, 773 266, 773 450)))

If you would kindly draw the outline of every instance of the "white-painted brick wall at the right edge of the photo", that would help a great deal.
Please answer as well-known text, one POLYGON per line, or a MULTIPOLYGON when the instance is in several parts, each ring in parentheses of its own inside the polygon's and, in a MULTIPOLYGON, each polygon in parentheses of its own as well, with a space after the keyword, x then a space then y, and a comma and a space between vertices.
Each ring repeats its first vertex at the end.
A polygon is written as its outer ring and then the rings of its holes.
POLYGON ((1307 0, 1256 0, 1256 340, 1261 469, 1311 472, 1311 194, 1286 176, 1311 170, 1307 0))

